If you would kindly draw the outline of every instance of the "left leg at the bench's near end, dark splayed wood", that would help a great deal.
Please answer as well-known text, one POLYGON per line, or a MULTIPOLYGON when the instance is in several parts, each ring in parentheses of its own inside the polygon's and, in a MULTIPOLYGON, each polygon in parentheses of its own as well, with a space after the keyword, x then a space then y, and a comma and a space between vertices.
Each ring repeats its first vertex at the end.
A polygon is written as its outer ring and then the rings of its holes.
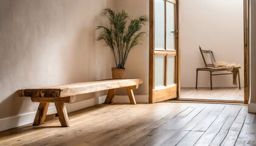
POLYGON ((49 102, 39 104, 33 125, 41 125, 44 122, 48 106, 49 102))

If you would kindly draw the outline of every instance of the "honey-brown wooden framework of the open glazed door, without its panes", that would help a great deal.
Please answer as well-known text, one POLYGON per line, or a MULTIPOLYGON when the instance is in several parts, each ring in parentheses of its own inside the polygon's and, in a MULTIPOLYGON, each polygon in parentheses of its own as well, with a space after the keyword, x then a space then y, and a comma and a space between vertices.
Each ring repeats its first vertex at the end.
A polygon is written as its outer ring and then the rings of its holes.
MULTIPOLYGON (((169 94, 172 94, 172 95, 175 95, 176 97, 174 97, 174 99, 177 99, 177 89, 179 89, 179 80, 180 79, 177 79, 176 76, 179 74, 179 33, 176 33, 175 35, 175 44, 176 44, 176 50, 165 50, 165 52, 163 52, 163 50, 155 50, 154 49, 154 46, 155 46, 155 41, 154 41, 154 36, 155 36, 155 16, 154 16, 154 1, 155 0, 149 0, 149 103, 155 103, 155 102, 159 102, 160 100, 164 100, 164 99, 168 99, 168 98, 165 98, 167 97, 166 95, 169 95, 169 94), (178 38, 178 39, 177 39, 178 38), (155 55, 154 55, 155 54, 155 55), (157 56, 157 55, 165 55, 165 86, 167 86, 167 59, 169 56, 176 56, 176 59, 175 59, 175 68, 176 68, 176 71, 174 72, 174 77, 175 77, 175 86, 169 86, 168 88, 166 89, 161 89, 162 91, 157 91, 155 90, 154 91, 154 59, 155 57, 154 56, 157 56), (175 88, 175 92, 173 91, 175 88), (163 95, 163 98, 159 98, 159 99, 156 99, 154 97, 154 92, 155 94, 159 94, 160 92, 163 92, 163 90, 166 91, 166 93, 162 94, 163 95)), ((175 5, 179 5, 179 0, 163 0, 165 2, 171 2, 172 4, 175 4, 175 5)), ((177 17, 177 15, 179 15, 178 11, 179 9, 177 9, 177 7, 174 8, 174 11, 175 11, 175 14, 174 14, 174 19, 176 19, 175 21, 175 30, 178 30, 179 31, 179 16, 177 17)), ((165 3, 165 23, 166 23, 166 3, 165 3)), ((166 30, 166 24, 165 24, 165 30, 166 30)), ((175 32, 174 32, 175 33, 175 32)), ((166 39, 166 32, 165 32, 165 39, 166 39)), ((166 40, 165 40, 165 47, 166 47, 166 40)))

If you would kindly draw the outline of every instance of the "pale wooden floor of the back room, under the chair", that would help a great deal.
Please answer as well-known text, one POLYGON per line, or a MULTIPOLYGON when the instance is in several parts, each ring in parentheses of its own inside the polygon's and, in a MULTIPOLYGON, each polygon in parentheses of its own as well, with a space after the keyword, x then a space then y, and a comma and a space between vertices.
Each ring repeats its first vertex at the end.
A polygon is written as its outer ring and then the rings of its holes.
POLYGON ((181 99, 211 99, 244 101, 244 88, 181 88, 181 99))

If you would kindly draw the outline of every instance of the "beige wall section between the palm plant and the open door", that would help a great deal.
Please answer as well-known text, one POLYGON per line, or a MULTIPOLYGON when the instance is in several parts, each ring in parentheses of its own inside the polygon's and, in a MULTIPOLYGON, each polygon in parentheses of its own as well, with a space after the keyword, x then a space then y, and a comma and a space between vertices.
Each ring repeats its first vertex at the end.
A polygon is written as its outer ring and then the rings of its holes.
MULTIPOLYGON (((110 0, 112 9, 126 10, 130 18, 138 18, 141 15, 149 16, 148 0, 110 0)), ((130 78, 143 78, 143 85, 135 90, 135 95, 148 95, 149 88, 149 23, 143 26, 146 35, 142 38, 142 44, 135 46, 127 58, 126 75, 130 78)), ((126 95, 126 90, 118 91, 118 95, 126 95)))

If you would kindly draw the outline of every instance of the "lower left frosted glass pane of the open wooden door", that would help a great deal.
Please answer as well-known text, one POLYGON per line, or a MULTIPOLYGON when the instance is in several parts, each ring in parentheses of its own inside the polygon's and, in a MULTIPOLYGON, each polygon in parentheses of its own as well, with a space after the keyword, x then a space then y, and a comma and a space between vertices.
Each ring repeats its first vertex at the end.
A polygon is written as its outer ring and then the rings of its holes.
POLYGON ((165 57, 155 56, 155 87, 164 86, 165 57))

